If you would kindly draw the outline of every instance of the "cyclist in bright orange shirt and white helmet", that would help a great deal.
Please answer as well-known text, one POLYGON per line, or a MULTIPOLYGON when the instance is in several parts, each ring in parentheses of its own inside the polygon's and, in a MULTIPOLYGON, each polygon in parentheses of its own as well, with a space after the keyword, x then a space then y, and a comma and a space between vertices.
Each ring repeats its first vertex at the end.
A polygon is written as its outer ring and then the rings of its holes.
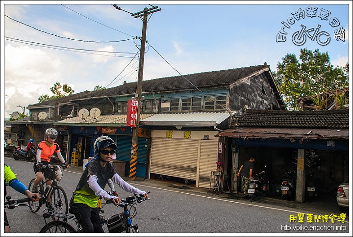
MULTIPOLYGON (((56 152, 57 157, 63 162, 66 167, 70 167, 68 163, 65 162, 65 159, 61 155, 59 145, 55 143, 57 137, 57 131, 55 129, 47 129, 44 135, 44 141, 39 142, 37 147, 37 160, 34 162, 33 170, 37 178, 33 182, 32 192, 38 192, 38 184, 43 180, 42 166, 49 165, 50 157, 56 152)), ((44 177, 48 180, 50 171, 44 171, 44 177)), ((47 183, 51 185, 51 181, 47 183)))

